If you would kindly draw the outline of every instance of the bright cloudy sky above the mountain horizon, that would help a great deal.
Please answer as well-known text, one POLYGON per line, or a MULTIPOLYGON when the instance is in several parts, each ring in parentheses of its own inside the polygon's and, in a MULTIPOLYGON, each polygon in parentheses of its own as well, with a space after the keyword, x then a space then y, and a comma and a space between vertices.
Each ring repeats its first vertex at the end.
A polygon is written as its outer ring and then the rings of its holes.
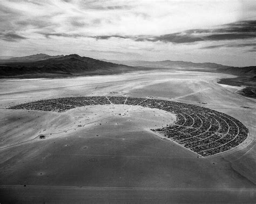
POLYGON ((0 56, 256 65, 253 0, 1 0, 0 56))

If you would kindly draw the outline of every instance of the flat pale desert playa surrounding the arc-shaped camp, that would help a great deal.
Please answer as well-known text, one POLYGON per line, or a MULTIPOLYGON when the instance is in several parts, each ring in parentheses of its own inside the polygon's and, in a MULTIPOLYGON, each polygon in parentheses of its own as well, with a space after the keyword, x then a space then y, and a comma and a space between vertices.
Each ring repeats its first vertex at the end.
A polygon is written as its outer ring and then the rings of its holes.
POLYGON ((255 201, 256 100, 235 94, 237 87, 217 83, 228 77, 233 76, 166 70, 15 83, 1 80, 0 198, 255 201), (176 120, 163 110, 112 104, 60 113, 5 109, 41 99, 99 95, 151 96, 200 105, 238 119, 250 135, 230 151, 198 158, 149 131, 176 120), (39 139, 41 134, 46 138, 39 139))

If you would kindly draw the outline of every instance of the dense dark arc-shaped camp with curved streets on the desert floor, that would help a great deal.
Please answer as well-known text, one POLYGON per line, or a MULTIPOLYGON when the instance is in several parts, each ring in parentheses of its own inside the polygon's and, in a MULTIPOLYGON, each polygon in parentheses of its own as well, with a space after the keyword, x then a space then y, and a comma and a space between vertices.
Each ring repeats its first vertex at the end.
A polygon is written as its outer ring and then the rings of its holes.
POLYGON ((111 103, 158 108, 176 114, 177 121, 174 125, 152 131, 160 132, 203 157, 230 150, 242 143, 248 135, 244 124, 221 112, 196 105, 156 99, 116 96, 65 97, 23 103, 9 109, 65 111, 84 105, 111 103))

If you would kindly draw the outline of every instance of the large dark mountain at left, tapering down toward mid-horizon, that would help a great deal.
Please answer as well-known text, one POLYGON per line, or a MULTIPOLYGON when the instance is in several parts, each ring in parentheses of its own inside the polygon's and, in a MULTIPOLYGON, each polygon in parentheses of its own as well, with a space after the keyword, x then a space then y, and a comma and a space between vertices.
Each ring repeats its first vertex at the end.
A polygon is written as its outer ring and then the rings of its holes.
POLYGON ((49 56, 31 55, 0 61, 0 77, 59 77, 95 74, 113 74, 129 71, 132 67, 100 61, 77 54, 49 56), (44 60, 42 60, 42 58, 44 60))

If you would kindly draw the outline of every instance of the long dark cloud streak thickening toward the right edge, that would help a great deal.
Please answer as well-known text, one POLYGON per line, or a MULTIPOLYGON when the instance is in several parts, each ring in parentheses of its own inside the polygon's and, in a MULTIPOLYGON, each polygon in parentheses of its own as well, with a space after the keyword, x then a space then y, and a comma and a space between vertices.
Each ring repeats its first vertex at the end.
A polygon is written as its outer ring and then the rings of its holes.
MULTIPOLYGON (((224 28, 218 29, 194 29, 186 30, 179 33, 164 34, 161 36, 122 36, 118 34, 106 36, 87 36, 85 34, 66 34, 66 33, 41 33, 45 37, 87 37, 97 40, 107 40, 110 38, 131 39, 134 41, 161 41, 164 43, 188 44, 197 43, 200 41, 223 41, 223 40, 243 40, 256 38, 256 21, 250 20, 247 22, 237 22, 233 24, 223 25, 224 28)), ((242 46, 242 45, 241 45, 242 46)), ((248 44, 247 44, 248 46, 248 44)), ((205 48, 215 48, 219 46, 208 46, 205 48)))

